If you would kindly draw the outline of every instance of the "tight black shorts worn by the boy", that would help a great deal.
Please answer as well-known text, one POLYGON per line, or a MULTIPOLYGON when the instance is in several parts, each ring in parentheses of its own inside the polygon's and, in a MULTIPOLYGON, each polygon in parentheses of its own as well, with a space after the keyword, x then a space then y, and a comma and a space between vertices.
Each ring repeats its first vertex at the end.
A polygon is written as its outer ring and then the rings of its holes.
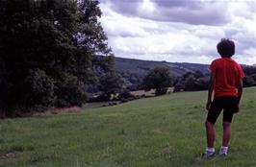
POLYGON ((236 96, 221 96, 214 99, 207 115, 207 121, 215 124, 223 109, 223 121, 232 122, 233 114, 238 109, 236 96))

